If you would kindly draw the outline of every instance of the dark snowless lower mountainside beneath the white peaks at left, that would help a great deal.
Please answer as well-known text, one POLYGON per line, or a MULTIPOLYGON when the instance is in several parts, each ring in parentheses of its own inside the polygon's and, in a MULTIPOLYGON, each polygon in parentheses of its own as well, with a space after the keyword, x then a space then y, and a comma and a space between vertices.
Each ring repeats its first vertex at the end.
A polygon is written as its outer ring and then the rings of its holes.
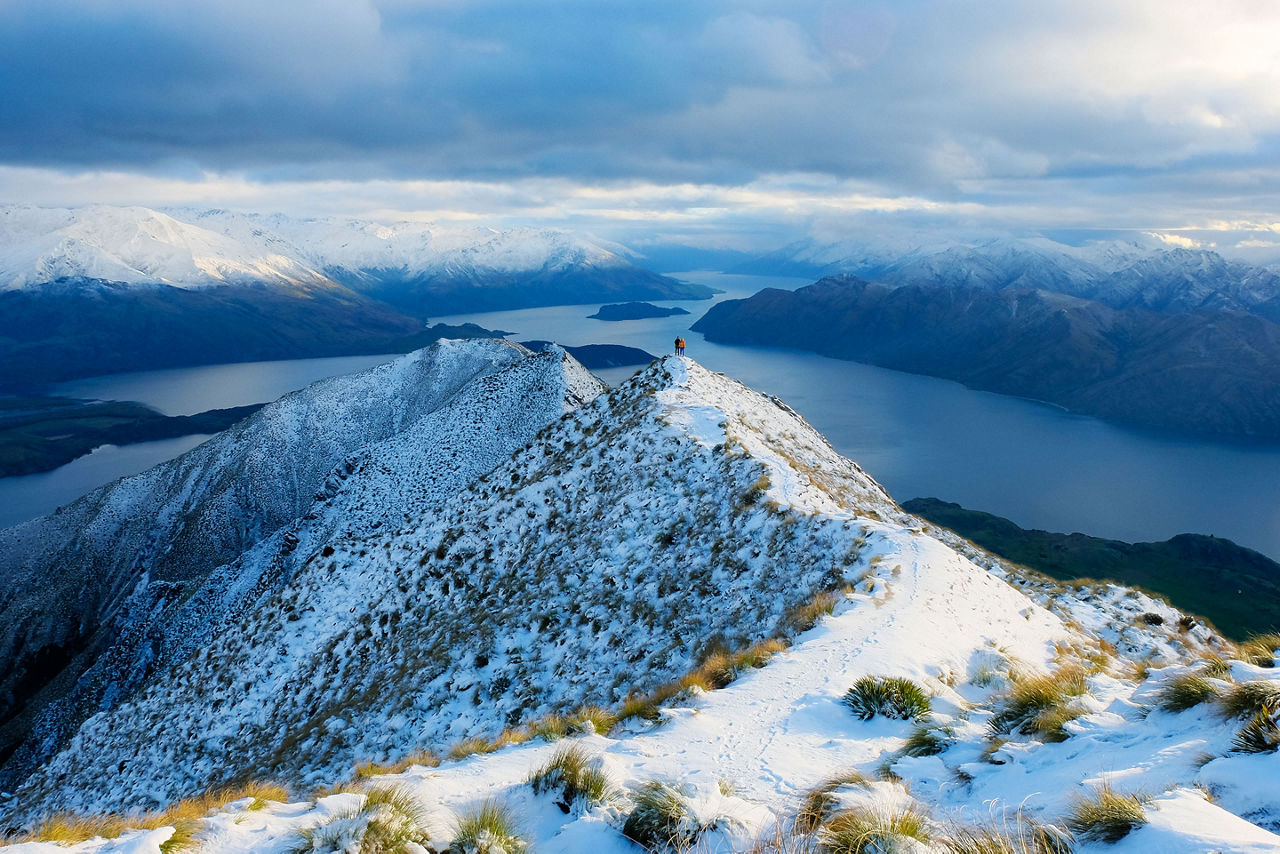
POLYGON ((334 284, 177 288, 60 279, 0 292, 0 388, 157 367, 404 352, 447 334, 334 284))

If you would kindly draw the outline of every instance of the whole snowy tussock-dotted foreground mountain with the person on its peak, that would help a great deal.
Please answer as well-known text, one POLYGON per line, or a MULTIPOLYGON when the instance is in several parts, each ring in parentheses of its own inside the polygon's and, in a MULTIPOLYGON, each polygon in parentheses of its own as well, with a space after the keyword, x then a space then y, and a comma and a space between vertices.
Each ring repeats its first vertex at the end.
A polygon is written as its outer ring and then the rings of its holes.
POLYGON ((324 490, 283 586, 87 720, 10 819, 371 763, 77 848, 1061 851, 1066 823, 1079 851, 1280 845, 1275 639, 991 558, 776 398, 671 356, 439 502, 389 485, 421 446, 396 447, 324 490), (584 703, 625 720, 548 744, 584 703), (1129 823, 1091 818, 1130 793, 1129 823))

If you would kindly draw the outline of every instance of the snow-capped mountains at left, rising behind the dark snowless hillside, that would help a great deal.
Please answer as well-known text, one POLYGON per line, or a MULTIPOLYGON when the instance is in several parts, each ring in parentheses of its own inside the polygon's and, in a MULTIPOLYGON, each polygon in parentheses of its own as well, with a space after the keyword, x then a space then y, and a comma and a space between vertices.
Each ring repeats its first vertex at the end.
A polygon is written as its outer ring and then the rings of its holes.
POLYGON ((0 291, 63 278, 175 287, 337 282, 420 314, 712 293, 636 266, 621 246, 556 229, 0 207, 0 291))

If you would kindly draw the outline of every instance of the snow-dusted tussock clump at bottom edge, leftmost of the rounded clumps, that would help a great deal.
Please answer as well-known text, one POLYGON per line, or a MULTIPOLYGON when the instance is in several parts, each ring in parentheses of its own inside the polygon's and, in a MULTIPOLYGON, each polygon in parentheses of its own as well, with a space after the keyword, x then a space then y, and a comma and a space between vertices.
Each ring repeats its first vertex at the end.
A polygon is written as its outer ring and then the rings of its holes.
POLYGON ((293 854, 343 851, 344 854, 392 854, 410 844, 429 841, 425 807, 398 786, 371 789, 365 803, 339 813, 319 827, 298 831, 293 854))

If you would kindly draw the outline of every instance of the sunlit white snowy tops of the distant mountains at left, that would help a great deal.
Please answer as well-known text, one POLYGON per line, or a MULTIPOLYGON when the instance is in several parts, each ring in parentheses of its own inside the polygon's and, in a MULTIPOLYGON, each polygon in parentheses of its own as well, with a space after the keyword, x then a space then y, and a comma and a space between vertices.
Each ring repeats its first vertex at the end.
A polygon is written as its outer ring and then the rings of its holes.
POLYGON ((161 213, 93 205, 0 207, 0 289, 64 277, 210 287, 294 284, 330 271, 407 274, 472 268, 627 265, 627 250, 550 229, 443 228, 346 219, 292 219, 221 210, 161 213))

